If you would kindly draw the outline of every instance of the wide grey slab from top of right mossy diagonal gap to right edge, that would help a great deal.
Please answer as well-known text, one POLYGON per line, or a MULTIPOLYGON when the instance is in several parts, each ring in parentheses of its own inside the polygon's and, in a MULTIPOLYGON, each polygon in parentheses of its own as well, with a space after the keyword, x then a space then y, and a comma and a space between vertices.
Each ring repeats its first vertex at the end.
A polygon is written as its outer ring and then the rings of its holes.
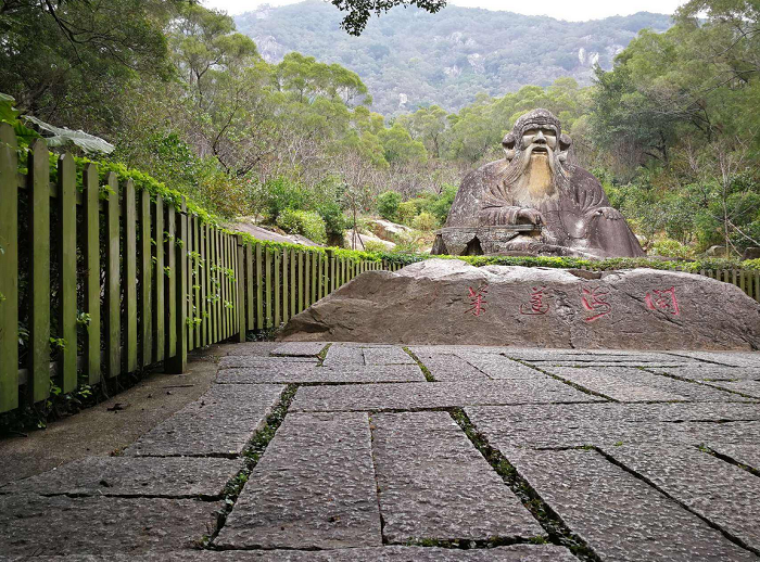
POLYGON ((468 407, 466 411, 505 454, 515 448, 617 443, 737 443, 743 434, 757 435, 752 432, 760 430, 758 422, 705 423, 757 419, 760 409, 753 404, 520 405, 468 407))

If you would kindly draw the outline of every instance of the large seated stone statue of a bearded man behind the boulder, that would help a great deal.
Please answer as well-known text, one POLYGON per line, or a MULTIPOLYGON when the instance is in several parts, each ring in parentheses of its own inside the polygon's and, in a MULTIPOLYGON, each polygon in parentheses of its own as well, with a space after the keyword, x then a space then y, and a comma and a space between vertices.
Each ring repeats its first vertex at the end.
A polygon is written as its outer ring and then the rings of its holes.
POLYGON ((550 112, 522 115, 502 142, 506 158, 463 180, 432 253, 644 256, 599 181, 568 164, 571 142, 550 112))

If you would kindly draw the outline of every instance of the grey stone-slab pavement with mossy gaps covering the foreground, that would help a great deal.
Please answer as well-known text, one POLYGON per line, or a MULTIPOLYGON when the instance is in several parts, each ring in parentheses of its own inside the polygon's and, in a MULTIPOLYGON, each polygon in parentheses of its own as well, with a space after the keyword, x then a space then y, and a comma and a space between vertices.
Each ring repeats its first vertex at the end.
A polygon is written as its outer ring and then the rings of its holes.
POLYGON ((760 560, 760 354, 270 352, 0 487, 0 560, 760 560))

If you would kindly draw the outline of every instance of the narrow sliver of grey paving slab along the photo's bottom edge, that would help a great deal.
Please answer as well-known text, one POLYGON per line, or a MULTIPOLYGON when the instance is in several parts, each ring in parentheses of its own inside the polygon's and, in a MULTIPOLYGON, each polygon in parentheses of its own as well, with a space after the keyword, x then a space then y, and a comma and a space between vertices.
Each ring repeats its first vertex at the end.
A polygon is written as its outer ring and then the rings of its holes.
MULTIPOLYGON (((4 558, 0 562, 29 560, 4 558)), ((213 550, 144 555, 41 557, 38 562, 578 562, 569 550, 554 545, 512 545, 490 549, 459 550, 435 547, 365 547, 322 551, 297 550, 213 550)))

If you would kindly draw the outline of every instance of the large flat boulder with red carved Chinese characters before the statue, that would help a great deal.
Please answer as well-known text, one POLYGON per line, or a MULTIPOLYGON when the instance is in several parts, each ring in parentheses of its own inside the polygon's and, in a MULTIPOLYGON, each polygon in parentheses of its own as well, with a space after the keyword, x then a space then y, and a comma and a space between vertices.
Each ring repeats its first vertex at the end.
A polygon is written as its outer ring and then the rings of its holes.
POLYGON ((760 305, 675 271, 428 259, 368 271, 291 319, 284 341, 610 349, 758 349, 760 305))

